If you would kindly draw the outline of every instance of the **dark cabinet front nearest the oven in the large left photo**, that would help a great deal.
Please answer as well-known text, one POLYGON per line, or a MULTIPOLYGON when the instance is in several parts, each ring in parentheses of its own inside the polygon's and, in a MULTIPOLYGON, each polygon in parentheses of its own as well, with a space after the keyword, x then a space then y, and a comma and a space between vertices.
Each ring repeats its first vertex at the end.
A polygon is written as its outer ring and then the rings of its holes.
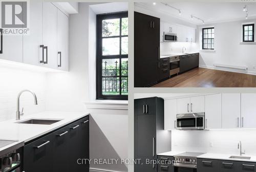
POLYGON ((52 171, 52 135, 24 146, 23 167, 26 172, 52 171))

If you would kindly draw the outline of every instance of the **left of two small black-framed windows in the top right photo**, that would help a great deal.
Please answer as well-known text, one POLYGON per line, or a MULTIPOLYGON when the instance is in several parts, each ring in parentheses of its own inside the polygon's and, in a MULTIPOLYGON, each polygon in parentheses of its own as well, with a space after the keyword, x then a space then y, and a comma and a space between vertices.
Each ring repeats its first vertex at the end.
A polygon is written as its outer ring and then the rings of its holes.
POLYGON ((214 50, 214 28, 203 28, 203 50, 214 50))

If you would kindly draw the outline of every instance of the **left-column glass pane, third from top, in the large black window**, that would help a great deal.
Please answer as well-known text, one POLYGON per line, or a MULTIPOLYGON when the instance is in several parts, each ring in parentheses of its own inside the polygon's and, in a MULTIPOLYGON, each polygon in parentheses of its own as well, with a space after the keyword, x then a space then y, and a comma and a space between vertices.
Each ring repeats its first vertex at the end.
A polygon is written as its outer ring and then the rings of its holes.
POLYGON ((102 59, 102 76, 119 76, 119 58, 102 59))

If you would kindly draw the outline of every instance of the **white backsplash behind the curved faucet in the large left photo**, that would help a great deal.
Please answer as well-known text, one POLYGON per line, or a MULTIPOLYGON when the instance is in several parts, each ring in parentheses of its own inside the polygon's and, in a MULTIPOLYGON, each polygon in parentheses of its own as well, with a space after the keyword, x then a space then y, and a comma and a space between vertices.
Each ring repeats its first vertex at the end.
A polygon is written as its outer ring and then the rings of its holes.
POLYGON ((38 105, 34 105, 33 95, 24 93, 20 96, 20 110, 24 107, 25 115, 45 111, 45 73, 0 67, 0 122, 15 119, 17 95, 24 89, 35 92, 38 105))

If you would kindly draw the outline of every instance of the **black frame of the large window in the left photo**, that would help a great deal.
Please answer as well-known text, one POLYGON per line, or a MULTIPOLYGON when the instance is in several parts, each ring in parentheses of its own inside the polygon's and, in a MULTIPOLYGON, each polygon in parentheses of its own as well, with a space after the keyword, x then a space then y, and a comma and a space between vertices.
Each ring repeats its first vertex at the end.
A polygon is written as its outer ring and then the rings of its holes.
MULTIPOLYGON (((121 59, 128 58, 128 54, 121 54, 121 38, 128 37, 127 35, 121 35, 121 26, 120 22, 120 34, 119 36, 109 36, 109 38, 120 38, 120 47, 118 55, 102 55, 102 20, 105 19, 114 19, 114 18, 126 18, 128 17, 128 11, 115 12, 115 13, 106 13, 96 15, 96 99, 100 100, 128 100, 128 95, 103 95, 102 94, 102 59, 119 59, 119 91, 121 93, 121 59)), ((127 69, 128 70, 128 69, 127 69)), ((127 76, 128 82, 128 76, 127 76)), ((127 83, 128 87, 128 83, 127 83)), ((127 88, 128 89, 128 88, 127 88)))

